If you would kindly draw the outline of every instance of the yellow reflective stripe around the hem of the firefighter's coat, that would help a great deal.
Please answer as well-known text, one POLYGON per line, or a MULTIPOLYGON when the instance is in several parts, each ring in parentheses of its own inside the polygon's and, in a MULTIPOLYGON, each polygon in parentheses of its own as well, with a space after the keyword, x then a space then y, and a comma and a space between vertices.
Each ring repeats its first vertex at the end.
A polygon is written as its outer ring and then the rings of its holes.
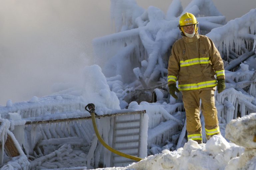
POLYGON ((216 85, 217 85, 217 81, 212 80, 212 81, 204 81, 204 82, 195 83, 195 84, 181 84, 181 85, 178 85, 178 89, 179 90, 197 90, 205 87, 215 87, 216 85))

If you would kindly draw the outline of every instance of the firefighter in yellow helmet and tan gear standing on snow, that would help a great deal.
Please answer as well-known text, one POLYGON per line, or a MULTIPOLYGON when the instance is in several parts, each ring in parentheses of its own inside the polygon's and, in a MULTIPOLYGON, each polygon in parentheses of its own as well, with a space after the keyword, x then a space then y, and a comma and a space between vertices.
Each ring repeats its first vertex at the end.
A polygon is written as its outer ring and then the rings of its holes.
POLYGON ((183 14, 178 27, 182 38, 173 44, 168 62, 169 93, 178 99, 175 92, 182 92, 187 137, 202 143, 200 99, 206 139, 220 134, 214 90, 215 86, 218 93, 225 89, 223 61, 214 43, 208 37, 198 34, 198 22, 193 14, 183 14))

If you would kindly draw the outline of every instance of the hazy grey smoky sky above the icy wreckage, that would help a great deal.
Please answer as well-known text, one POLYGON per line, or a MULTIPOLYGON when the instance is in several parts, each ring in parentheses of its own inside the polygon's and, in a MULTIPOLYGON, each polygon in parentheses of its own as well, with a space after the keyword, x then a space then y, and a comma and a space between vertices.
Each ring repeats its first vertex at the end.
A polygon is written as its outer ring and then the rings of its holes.
MULTIPOLYGON (((183 8, 190 2, 181 0, 183 8)), ((255 0, 214 0, 227 21, 255 0)), ((137 0, 166 12, 171 0, 137 0)), ((92 39, 113 33, 110 0, 0 0, 0 105, 52 93, 54 83, 79 83, 93 63, 92 39)))

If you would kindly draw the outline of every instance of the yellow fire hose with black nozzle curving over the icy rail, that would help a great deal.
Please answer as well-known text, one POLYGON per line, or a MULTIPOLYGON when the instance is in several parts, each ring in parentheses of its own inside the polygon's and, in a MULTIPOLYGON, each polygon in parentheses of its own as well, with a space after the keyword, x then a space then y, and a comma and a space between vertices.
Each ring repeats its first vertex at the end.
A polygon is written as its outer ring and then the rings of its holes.
POLYGON ((98 138, 98 140, 100 141, 100 143, 105 147, 107 148, 108 150, 110 150, 111 152, 117 154, 117 155, 120 155, 120 156, 123 156, 123 157, 126 157, 126 158, 129 158, 129 159, 132 159, 132 160, 135 160, 135 161, 140 161, 142 160, 143 158, 140 158, 140 157, 136 157, 136 156, 132 156, 132 155, 129 155, 129 154, 125 154, 123 152, 120 152, 114 148, 112 148, 111 146, 109 146, 101 137, 99 131, 98 131, 98 128, 97 128, 97 125, 96 125, 96 120, 95 120, 95 106, 94 104, 90 103, 88 104, 86 107, 85 107, 85 110, 87 110, 90 114, 91 114, 91 117, 92 117, 92 124, 93 124, 93 128, 94 128, 94 131, 95 131, 95 134, 98 138), (86 108, 88 107, 89 110, 87 110, 86 108))

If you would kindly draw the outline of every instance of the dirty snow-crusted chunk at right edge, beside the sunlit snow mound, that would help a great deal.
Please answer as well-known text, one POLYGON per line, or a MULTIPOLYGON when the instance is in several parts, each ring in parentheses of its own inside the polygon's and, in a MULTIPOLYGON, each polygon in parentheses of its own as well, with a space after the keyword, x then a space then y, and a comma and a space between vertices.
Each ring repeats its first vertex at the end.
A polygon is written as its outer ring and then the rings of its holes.
POLYGON ((256 148, 253 137, 256 133, 256 113, 232 120, 226 127, 225 137, 245 148, 256 148))

